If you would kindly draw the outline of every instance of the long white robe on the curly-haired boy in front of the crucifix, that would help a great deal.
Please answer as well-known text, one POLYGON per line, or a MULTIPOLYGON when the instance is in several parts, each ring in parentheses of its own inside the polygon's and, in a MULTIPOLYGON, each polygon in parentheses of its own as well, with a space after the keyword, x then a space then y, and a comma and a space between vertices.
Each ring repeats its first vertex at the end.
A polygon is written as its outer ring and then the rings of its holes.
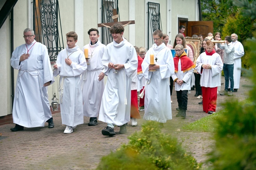
POLYGON ((101 100, 99 120, 122 126, 130 121, 131 75, 138 67, 136 50, 125 38, 119 44, 113 41, 106 46, 102 64, 108 80, 101 100), (115 69, 108 67, 110 62, 124 64, 125 67, 114 73, 115 69))

